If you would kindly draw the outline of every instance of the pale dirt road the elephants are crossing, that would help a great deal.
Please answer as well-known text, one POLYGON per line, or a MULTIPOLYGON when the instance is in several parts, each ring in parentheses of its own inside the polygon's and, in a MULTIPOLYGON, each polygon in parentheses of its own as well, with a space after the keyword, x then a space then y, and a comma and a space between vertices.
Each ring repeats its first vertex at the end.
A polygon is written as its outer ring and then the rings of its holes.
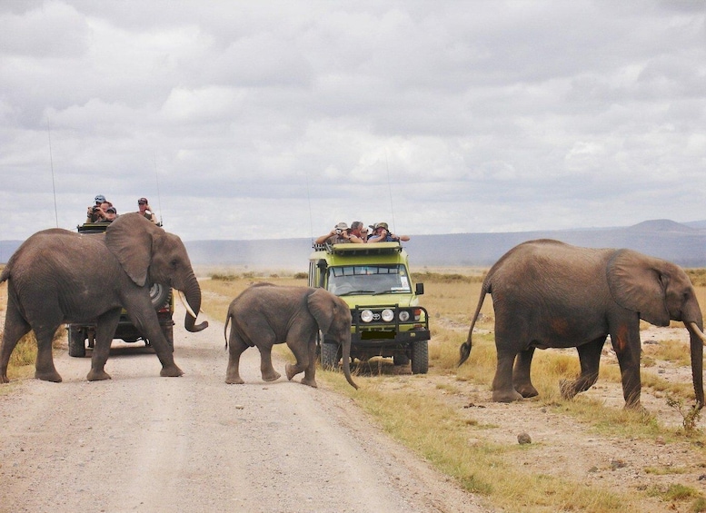
POLYGON ((175 327, 181 378, 160 378, 154 354, 125 347, 108 360, 113 380, 87 382, 89 360, 57 350, 63 383, 9 385, 0 511, 482 510, 350 401, 264 383, 257 350, 241 362, 246 384, 226 385, 223 325, 210 322, 201 333, 175 327))

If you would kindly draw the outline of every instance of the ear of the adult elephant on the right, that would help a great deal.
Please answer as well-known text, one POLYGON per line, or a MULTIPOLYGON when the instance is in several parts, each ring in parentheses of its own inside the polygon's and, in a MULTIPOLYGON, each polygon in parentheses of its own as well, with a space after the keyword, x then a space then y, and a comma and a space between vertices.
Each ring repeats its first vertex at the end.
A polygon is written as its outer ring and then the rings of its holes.
POLYGON ((669 326, 666 304, 669 274, 664 261, 631 250, 619 250, 608 261, 608 287, 612 298, 655 326, 669 326))

